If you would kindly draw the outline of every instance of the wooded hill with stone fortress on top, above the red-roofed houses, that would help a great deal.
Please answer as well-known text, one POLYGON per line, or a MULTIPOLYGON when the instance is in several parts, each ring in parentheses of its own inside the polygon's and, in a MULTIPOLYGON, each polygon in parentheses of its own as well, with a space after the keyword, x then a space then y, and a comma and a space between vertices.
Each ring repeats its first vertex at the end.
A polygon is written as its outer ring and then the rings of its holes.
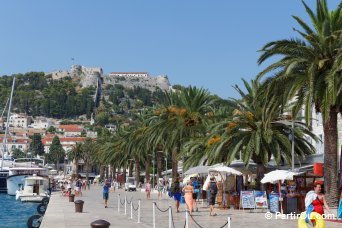
MULTIPOLYGON (((108 117, 104 122, 124 120, 132 112, 164 99, 170 89, 167 76, 147 73, 103 74, 99 67, 74 65, 68 71, 16 74, 12 111, 32 116, 90 119, 93 112, 108 117)), ((9 97, 11 76, 0 77, 0 110, 9 97)))

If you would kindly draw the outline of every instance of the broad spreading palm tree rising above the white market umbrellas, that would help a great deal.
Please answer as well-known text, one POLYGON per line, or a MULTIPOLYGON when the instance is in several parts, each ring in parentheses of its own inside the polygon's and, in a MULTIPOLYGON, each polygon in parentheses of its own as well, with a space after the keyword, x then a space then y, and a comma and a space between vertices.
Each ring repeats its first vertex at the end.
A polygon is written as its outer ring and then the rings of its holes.
MULTIPOLYGON (((242 159, 248 165, 252 160, 257 164, 257 185, 260 187, 265 166, 272 157, 277 164, 282 160, 291 163, 291 142, 288 137, 291 127, 279 118, 282 110, 275 98, 260 99, 263 90, 259 81, 252 80, 250 84, 243 81, 247 93, 235 86, 241 99, 230 100, 234 111, 214 123, 206 137, 195 138, 186 145, 190 157, 188 162, 230 164, 242 159)), ((298 158, 303 159, 305 155, 314 153, 314 147, 305 136, 316 137, 305 124, 295 123, 294 136, 298 158)))

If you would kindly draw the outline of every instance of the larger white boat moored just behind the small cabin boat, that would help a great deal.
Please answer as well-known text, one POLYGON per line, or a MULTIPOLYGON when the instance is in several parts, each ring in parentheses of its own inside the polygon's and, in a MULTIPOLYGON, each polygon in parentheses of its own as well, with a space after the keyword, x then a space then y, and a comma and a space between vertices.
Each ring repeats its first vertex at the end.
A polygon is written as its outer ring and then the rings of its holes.
MULTIPOLYGON (((18 160, 25 159, 16 159, 14 160, 12 168, 9 168, 9 174, 7 177, 7 194, 16 195, 16 191, 22 189, 25 183, 25 179, 27 177, 37 175, 41 177, 48 178, 48 169, 44 167, 39 167, 37 165, 32 164, 32 162, 19 163, 18 160)), ((27 159, 26 159, 27 160, 27 159)), ((30 159, 30 160, 39 160, 42 159, 30 159)), ((44 164, 44 161, 43 161, 44 164)))

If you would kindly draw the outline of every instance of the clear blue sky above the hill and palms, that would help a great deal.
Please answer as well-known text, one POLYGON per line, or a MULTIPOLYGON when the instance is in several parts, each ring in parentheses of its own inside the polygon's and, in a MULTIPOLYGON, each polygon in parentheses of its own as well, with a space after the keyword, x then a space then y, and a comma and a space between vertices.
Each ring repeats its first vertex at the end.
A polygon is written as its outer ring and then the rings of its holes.
POLYGON ((1 1, 0 75, 79 64, 238 97, 232 86, 267 65, 257 65, 258 50, 298 37, 291 15, 309 22, 300 0, 1 1))

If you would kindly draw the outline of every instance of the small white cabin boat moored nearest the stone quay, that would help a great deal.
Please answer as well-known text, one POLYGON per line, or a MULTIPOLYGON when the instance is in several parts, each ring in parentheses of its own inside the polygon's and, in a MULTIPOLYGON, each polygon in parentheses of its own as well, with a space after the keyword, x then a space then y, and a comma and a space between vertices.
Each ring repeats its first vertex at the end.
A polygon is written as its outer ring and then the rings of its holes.
POLYGON ((17 190, 16 199, 21 202, 42 202, 44 197, 49 197, 49 178, 30 176, 25 178, 23 189, 17 190))

